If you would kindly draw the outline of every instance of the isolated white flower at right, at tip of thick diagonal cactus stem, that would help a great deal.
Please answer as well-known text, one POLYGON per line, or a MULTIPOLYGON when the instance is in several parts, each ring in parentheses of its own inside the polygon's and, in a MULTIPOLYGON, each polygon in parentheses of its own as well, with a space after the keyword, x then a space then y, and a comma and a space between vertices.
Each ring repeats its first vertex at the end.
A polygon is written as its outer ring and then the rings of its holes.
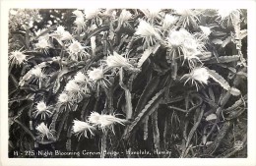
POLYGON ((204 67, 194 68, 189 74, 185 74, 181 79, 187 78, 186 84, 188 81, 192 81, 192 84, 195 83, 198 89, 198 83, 208 83, 208 79, 210 79, 210 74, 204 67))

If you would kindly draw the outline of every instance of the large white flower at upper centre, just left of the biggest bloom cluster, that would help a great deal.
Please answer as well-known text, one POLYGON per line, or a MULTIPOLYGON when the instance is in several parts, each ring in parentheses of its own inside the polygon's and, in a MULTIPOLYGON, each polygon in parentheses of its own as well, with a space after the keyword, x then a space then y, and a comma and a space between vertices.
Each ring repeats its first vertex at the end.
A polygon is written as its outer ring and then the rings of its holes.
POLYGON ((140 20, 140 25, 136 29, 135 34, 143 37, 148 46, 153 45, 157 40, 161 40, 157 29, 144 20, 140 20))

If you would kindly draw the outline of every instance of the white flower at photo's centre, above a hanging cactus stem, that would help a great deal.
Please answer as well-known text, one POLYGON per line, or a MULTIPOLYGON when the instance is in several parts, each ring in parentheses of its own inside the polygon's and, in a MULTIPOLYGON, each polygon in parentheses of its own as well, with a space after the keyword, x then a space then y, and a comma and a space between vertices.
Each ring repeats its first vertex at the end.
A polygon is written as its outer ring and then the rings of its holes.
POLYGON ((127 58, 124 58, 123 56, 119 55, 115 51, 113 52, 113 55, 110 55, 106 58, 105 62, 109 68, 133 67, 131 64, 129 64, 129 61, 127 58))

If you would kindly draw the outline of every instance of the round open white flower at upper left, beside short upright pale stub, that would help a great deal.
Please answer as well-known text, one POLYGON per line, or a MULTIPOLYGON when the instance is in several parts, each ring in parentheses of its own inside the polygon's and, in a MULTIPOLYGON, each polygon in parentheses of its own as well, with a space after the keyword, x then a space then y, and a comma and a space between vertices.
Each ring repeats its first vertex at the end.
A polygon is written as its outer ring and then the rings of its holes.
POLYGON ((73 42, 68 47, 70 58, 72 60, 78 61, 83 57, 89 56, 89 54, 85 51, 85 48, 86 47, 82 46, 82 44, 79 41, 73 40, 73 42))

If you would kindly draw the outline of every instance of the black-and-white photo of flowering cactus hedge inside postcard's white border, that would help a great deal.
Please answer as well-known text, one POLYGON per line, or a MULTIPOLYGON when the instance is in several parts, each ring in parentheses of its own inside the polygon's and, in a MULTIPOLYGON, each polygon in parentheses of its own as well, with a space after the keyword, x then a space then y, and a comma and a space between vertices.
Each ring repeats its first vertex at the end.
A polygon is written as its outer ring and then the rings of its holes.
POLYGON ((246 157, 247 14, 12 9, 9 157, 246 157))

